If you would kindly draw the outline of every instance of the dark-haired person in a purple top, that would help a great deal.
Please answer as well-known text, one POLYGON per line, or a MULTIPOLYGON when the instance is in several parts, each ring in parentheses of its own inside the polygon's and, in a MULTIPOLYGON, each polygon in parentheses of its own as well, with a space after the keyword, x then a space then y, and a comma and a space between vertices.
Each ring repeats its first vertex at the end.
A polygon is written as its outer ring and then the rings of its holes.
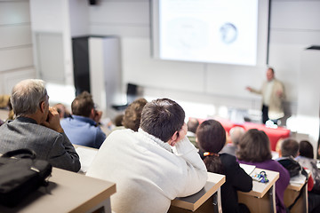
POLYGON ((284 190, 289 185, 290 175, 279 162, 272 160, 267 134, 262 130, 247 130, 239 141, 236 157, 238 162, 280 173, 276 180, 276 212, 287 212, 284 206, 284 190))

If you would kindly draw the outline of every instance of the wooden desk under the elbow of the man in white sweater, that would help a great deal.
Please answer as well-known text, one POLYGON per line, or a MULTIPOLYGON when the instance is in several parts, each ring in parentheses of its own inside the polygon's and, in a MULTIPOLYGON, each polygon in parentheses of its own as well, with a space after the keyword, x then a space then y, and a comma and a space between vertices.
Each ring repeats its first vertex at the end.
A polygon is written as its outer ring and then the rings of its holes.
POLYGON ((176 198, 168 212, 222 212, 220 186, 226 182, 224 175, 208 172, 204 188, 191 196, 176 198), (215 203, 215 205, 213 205, 215 203))

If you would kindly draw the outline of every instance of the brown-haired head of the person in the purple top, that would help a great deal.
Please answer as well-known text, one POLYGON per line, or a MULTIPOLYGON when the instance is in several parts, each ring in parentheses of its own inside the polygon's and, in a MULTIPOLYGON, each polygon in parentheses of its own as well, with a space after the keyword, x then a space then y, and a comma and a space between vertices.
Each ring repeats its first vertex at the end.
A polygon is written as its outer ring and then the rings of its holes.
POLYGON ((270 141, 262 130, 247 130, 239 141, 236 157, 245 162, 264 162, 272 158, 270 141))

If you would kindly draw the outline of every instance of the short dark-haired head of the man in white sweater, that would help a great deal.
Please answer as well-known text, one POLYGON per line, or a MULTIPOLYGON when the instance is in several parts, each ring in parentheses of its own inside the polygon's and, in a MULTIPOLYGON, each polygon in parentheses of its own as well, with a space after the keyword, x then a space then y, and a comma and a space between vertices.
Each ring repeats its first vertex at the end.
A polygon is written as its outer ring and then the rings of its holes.
POLYGON ((156 99, 143 107, 140 128, 167 142, 182 128, 184 119, 185 112, 179 104, 171 99, 156 99))

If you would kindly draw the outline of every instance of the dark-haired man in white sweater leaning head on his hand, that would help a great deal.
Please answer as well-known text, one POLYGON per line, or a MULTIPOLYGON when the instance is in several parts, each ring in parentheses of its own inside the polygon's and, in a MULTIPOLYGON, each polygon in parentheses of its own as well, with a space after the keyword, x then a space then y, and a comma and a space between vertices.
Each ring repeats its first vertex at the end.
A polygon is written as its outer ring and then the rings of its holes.
POLYGON ((156 99, 143 107, 138 131, 111 132, 86 175, 116 183, 113 211, 164 213, 171 200, 204 187, 207 170, 184 119, 176 102, 156 99))

